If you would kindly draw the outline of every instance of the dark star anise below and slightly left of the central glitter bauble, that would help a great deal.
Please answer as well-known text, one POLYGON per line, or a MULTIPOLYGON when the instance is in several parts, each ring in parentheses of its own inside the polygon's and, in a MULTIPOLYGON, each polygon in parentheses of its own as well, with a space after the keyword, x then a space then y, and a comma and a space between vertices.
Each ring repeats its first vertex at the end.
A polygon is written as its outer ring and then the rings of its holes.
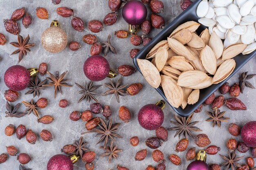
POLYGON ((87 100, 87 102, 90 102, 91 99, 93 99, 95 102, 98 102, 98 100, 94 97, 94 95, 98 95, 98 94, 94 93, 93 91, 95 91, 97 88, 99 88, 102 85, 92 86, 93 82, 90 82, 89 84, 85 82, 85 86, 81 86, 78 83, 75 83, 75 84, 76 86, 82 89, 81 91, 78 92, 79 94, 82 94, 78 103, 81 102, 84 98, 87 100))

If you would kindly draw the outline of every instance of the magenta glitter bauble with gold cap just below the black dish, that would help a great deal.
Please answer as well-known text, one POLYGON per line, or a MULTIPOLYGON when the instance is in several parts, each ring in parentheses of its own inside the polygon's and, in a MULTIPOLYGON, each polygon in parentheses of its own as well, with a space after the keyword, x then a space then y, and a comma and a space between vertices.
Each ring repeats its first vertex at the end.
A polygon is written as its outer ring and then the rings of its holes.
POLYGON ((165 102, 163 100, 157 104, 147 104, 139 110, 138 121, 142 128, 146 130, 155 130, 164 122, 165 102))

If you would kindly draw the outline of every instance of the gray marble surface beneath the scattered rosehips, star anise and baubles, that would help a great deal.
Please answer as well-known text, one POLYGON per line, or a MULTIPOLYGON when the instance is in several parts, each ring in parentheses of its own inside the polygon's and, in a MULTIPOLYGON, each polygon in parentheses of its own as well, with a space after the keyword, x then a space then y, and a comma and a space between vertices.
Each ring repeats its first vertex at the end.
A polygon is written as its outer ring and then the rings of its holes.
MULTIPOLYGON (((164 13, 161 13, 164 16, 167 23, 171 22, 175 17, 177 17, 182 10, 180 9, 179 2, 180 0, 162 0, 164 2, 164 13)), ((7 33, 4 29, 3 23, 0 24, 0 32, 4 33, 7 37, 7 44, 5 46, 0 46, 0 153, 6 152, 5 146, 16 146, 19 152, 28 153, 32 160, 25 165, 28 168, 32 168, 33 170, 46 170, 47 161, 50 157, 55 154, 60 154, 61 148, 66 144, 72 144, 74 140, 78 140, 81 136, 80 133, 85 131, 85 123, 82 120, 79 121, 71 121, 69 119, 69 115, 74 110, 84 111, 89 109, 89 103, 85 101, 77 104, 79 99, 78 91, 79 88, 74 84, 75 82, 79 84, 84 84, 86 80, 88 80, 83 74, 83 62, 86 58, 90 56, 90 45, 85 44, 82 41, 83 35, 90 33, 90 30, 86 27, 83 32, 75 31, 71 26, 71 18, 63 18, 56 14, 57 7, 70 7, 74 9, 77 16, 81 17, 83 21, 88 24, 90 20, 103 20, 104 16, 110 12, 108 8, 108 0, 62 0, 61 4, 54 5, 51 0, 0 0, 0 19, 6 19, 11 17, 11 13, 20 7, 25 7, 26 10, 32 15, 33 23, 29 26, 28 29, 25 29, 21 20, 18 21, 20 25, 21 31, 20 34, 25 37, 27 34, 30 35, 31 41, 36 43, 36 46, 31 48, 31 53, 28 53, 27 56, 20 62, 20 65, 25 66, 26 68, 30 67, 38 67, 41 62, 47 62, 49 64, 49 71, 51 73, 55 73, 55 71, 59 71, 63 73, 64 71, 68 71, 67 78, 70 79, 69 83, 73 85, 72 88, 63 88, 63 95, 58 93, 56 99, 54 99, 54 89, 48 88, 45 91, 42 91, 40 97, 46 97, 49 99, 49 105, 47 108, 40 109, 40 116, 43 115, 52 115, 55 117, 55 120, 52 124, 38 124, 36 122, 36 117, 31 114, 22 118, 6 118, 4 117, 5 103, 4 99, 4 91, 7 90, 7 87, 4 84, 3 77, 4 72, 9 68, 9 66, 15 65, 18 61, 18 55, 10 54, 15 50, 13 46, 11 46, 10 42, 16 42, 17 36, 7 33), (40 20, 36 17, 35 9, 37 7, 45 7, 49 12, 49 20, 40 20), (48 53, 43 49, 40 44, 41 34, 45 29, 47 29, 52 20, 59 20, 61 23, 61 27, 66 31, 68 35, 68 41, 78 41, 81 43, 82 47, 78 51, 70 51, 70 49, 65 48, 64 51, 58 54, 48 53), (58 107, 58 101, 60 99, 67 99, 71 104, 67 108, 58 107), (42 129, 47 129, 53 134, 52 142, 45 142, 40 137, 38 137, 38 141, 35 145, 29 144, 25 138, 18 140, 15 135, 11 137, 7 137, 4 135, 4 128, 9 125, 14 124, 16 127, 19 124, 24 124, 27 129, 32 129, 37 134, 40 133, 42 129)), ((149 18, 149 17, 148 17, 149 18)), ((114 32, 119 29, 127 29, 126 22, 121 17, 121 11, 119 11, 119 18, 117 23, 112 26, 105 26, 104 30, 100 33, 97 33, 97 37, 99 37, 100 41, 105 41, 108 37, 108 34, 112 35, 112 45, 117 49, 117 55, 113 55, 109 53, 106 57, 110 62, 110 66, 114 69, 117 69, 118 66, 122 64, 132 64, 132 60, 129 56, 129 50, 135 48, 130 44, 130 38, 126 39, 118 39, 115 37, 114 32)), ((150 33, 150 37, 154 37, 161 30, 153 29, 150 33)), ((141 33, 139 33, 141 34, 141 33)), ((139 46, 138 48, 142 48, 143 46, 139 46)), ((240 73, 244 71, 249 71, 249 73, 255 73, 256 69, 256 58, 254 57, 250 60, 234 77, 229 80, 230 84, 233 84, 238 81, 238 77, 240 73)), ((113 80, 117 82, 119 79, 114 78, 113 80)), ((40 76, 40 79, 43 80, 44 77, 40 76)), ((101 82, 97 82, 95 84, 103 84, 108 83, 109 79, 105 79, 101 82)), ((126 166, 130 170, 144 170, 148 165, 152 164, 153 166, 157 166, 157 163, 153 161, 151 158, 152 149, 147 148, 144 144, 144 141, 148 137, 152 137, 155 135, 155 131, 148 131, 141 128, 137 121, 137 113, 139 109, 145 104, 155 104, 158 100, 161 99, 161 96, 155 91, 155 89, 151 88, 142 75, 139 72, 131 75, 130 77, 124 77, 124 84, 132 84, 135 82, 140 82, 144 85, 143 90, 136 96, 126 96, 121 97, 120 103, 116 102, 115 96, 98 96, 99 102, 103 105, 110 105, 112 108, 113 121, 121 122, 118 117, 118 110, 120 106, 126 106, 130 109, 132 113, 132 119, 128 124, 122 123, 119 130, 117 131, 120 135, 123 136, 122 139, 117 139, 117 145, 120 149, 123 150, 119 154, 118 160, 113 160, 111 164, 108 163, 107 157, 100 158, 99 155, 103 153, 103 150, 99 149, 99 145, 95 145, 98 141, 98 137, 94 137, 94 134, 86 134, 84 135, 85 140, 88 142, 88 148, 97 153, 97 157, 94 161, 95 170, 115 170, 117 164, 122 166, 126 166), (132 136, 138 136, 140 139, 140 144, 137 147, 132 147, 129 144, 129 139, 132 136), (136 162, 134 156, 137 151, 147 148, 148 156, 146 159, 140 162, 136 162)), ((252 79, 250 81, 252 84, 256 84, 256 79, 252 79)), ((14 103, 22 101, 30 101, 33 97, 32 95, 25 95, 25 92, 28 89, 20 92, 19 99, 14 103)), ((98 93, 103 93, 107 90, 106 87, 102 86, 98 89, 98 93)), ((216 93, 216 95, 220 95, 216 93)), ((218 127, 213 128, 211 123, 206 122, 207 114, 206 110, 209 110, 208 107, 204 107, 202 113, 195 114, 194 120, 200 121, 197 126, 203 130, 203 133, 207 134, 211 139, 211 144, 217 145, 221 147, 220 154, 227 155, 227 149, 225 147, 226 141, 232 136, 228 132, 228 125, 231 122, 235 122, 240 126, 243 126, 247 121, 256 120, 255 115, 255 96, 256 90, 246 88, 245 92, 240 95, 238 98, 241 99, 247 106, 246 111, 231 111, 228 110, 225 106, 221 108, 223 111, 227 111, 226 116, 230 117, 229 122, 225 122, 222 124, 222 128, 218 127)), ((226 95, 229 97, 229 95, 226 95)), ((34 99, 37 100, 37 97, 34 99)), ((13 104, 13 103, 12 103, 13 104)), ((25 107, 22 105, 20 108, 21 111, 25 110, 25 107)), ((170 120, 173 119, 174 111, 170 106, 166 106, 164 108, 164 124, 163 126, 166 128, 171 127, 170 120)), ((174 148, 179 140, 178 137, 174 138, 175 132, 169 131, 168 141, 164 142, 162 147, 159 150, 164 152, 165 159, 167 160, 166 166, 168 170, 184 170, 190 163, 190 161, 185 160, 185 152, 178 153, 182 158, 181 166, 174 166, 168 159, 169 155, 175 153, 174 148)), ((198 133, 194 133, 196 135, 198 133)), ((238 141, 241 141, 240 137, 236 137, 238 141)), ((189 147, 195 146, 193 139, 190 138, 189 147)), ((197 151, 200 148, 197 147, 197 151)), ((246 154, 238 153, 238 156, 245 155, 248 157, 250 152, 246 154)), ((219 155, 208 156, 207 163, 223 163, 223 160, 219 155)), ((242 159, 240 163, 244 164, 245 159, 242 159)), ((9 157, 7 162, 2 163, 0 165, 0 170, 18 170, 18 161, 16 157, 9 157)), ((74 165, 75 170, 84 170, 85 163, 81 160, 74 165)))

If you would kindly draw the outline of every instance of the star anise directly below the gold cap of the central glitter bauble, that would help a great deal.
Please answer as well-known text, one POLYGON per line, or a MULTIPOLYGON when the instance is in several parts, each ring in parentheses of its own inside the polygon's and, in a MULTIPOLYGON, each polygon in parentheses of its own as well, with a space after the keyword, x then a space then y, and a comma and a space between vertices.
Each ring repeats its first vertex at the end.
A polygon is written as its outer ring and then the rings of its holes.
POLYGON ((111 79, 110 79, 110 83, 111 84, 104 83, 104 86, 108 87, 110 90, 106 91, 102 95, 106 96, 106 95, 115 94, 117 102, 119 103, 119 95, 121 95, 121 96, 125 96, 126 95, 126 91, 123 90, 123 89, 126 88, 128 86, 128 84, 121 86, 121 84, 122 84, 122 77, 120 77, 120 79, 117 81, 116 85, 112 82, 111 79))

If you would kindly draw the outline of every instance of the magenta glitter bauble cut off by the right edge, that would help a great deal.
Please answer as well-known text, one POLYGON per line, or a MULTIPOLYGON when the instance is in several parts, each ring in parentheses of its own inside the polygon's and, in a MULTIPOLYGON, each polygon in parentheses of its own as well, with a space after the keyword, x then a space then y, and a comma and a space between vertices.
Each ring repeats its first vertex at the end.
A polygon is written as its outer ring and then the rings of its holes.
POLYGON ((256 121, 249 121, 241 130, 242 140, 249 147, 256 147, 256 121))

